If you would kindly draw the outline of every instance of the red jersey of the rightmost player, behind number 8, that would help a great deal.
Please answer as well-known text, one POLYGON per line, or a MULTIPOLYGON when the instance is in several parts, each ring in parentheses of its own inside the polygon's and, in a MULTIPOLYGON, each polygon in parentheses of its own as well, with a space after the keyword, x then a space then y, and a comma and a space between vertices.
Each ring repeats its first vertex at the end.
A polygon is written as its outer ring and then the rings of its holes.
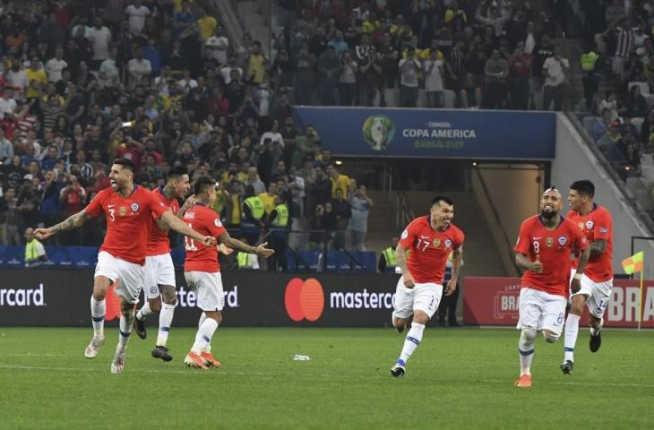
MULTIPOLYGON (((604 254, 590 255, 584 274, 594 282, 605 282, 613 278, 613 221, 611 213, 603 206, 593 205, 588 215, 581 215, 578 211, 570 211, 568 219, 581 230, 589 243, 596 240, 606 240, 607 248, 604 254)), ((579 258, 575 258, 572 267, 576 268, 579 258)))

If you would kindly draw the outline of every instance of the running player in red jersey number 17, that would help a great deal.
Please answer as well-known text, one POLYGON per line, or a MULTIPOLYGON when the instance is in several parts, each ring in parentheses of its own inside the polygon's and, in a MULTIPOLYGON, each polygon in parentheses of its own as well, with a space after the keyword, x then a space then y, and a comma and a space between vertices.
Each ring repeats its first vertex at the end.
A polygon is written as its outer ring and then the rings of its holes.
POLYGON ((404 340, 400 358, 391 368, 394 377, 404 376, 407 361, 422 340, 425 324, 434 316, 441 301, 445 263, 450 253, 453 253, 452 279, 447 284, 445 295, 450 296, 456 288, 464 235, 452 224, 453 218, 452 200, 437 195, 432 201, 429 215, 411 221, 395 248, 402 276, 395 290, 392 323, 398 332, 404 331, 411 315, 413 323, 404 340))

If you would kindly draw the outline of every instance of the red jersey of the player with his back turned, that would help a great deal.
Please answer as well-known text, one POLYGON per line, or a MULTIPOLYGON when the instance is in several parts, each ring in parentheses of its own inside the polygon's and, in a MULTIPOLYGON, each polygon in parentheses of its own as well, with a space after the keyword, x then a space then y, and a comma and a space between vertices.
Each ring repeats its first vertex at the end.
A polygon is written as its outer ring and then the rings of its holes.
MULTIPOLYGON (((196 202, 191 209, 185 211, 184 222, 203 236, 218 238, 225 233, 218 213, 208 208, 202 202, 196 202)), ((186 237, 186 260, 184 271, 209 271, 215 273, 220 271, 218 262, 218 248, 198 244, 191 237, 186 237)))

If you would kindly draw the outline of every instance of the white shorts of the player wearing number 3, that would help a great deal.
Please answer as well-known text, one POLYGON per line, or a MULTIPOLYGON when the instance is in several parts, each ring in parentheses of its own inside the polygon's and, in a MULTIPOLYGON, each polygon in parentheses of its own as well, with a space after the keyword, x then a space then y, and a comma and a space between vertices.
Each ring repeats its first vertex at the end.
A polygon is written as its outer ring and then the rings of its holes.
POLYGON ((93 277, 104 276, 114 283, 117 281, 118 285, 114 288, 116 295, 125 298, 128 303, 138 303, 144 274, 141 264, 125 262, 107 251, 100 251, 93 277))

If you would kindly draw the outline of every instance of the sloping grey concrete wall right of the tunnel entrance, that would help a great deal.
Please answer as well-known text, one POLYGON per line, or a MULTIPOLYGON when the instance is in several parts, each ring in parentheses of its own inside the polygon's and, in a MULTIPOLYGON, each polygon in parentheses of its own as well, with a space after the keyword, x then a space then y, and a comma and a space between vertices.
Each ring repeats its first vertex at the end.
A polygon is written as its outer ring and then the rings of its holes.
MULTIPOLYGON (((613 215, 613 267, 615 272, 622 273, 620 262, 631 253, 631 237, 649 236, 647 228, 632 211, 620 189, 607 175, 604 167, 594 157, 568 118, 558 114, 552 183, 565 195, 568 192, 568 185, 580 179, 589 179, 595 184, 595 202, 605 206, 613 215)), ((652 251, 654 248, 650 247, 650 255, 654 255, 651 254, 652 251)), ((647 257, 648 253, 645 255, 647 257)))

